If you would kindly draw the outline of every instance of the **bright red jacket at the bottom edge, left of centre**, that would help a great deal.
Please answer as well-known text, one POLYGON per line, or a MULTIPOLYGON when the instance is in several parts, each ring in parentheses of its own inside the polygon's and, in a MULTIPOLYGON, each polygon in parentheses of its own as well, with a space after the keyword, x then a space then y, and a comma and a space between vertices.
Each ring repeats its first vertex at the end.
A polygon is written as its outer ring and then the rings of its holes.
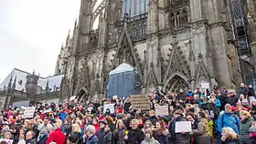
POLYGON ((49 134, 47 144, 50 142, 56 142, 57 144, 65 144, 66 136, 60 129, 56 129, 49 134))

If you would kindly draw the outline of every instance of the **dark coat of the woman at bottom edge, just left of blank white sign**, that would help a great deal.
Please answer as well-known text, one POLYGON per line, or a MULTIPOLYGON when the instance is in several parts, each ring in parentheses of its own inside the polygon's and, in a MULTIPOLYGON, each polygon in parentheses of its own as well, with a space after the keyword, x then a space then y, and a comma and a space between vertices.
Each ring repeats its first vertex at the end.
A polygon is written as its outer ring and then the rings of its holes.
POLYGON ((168 139, 168 131, 163 129, 155 129, 153 133, 153 137, 160 143, 160 144, 169 144, 170 141, 168 139))

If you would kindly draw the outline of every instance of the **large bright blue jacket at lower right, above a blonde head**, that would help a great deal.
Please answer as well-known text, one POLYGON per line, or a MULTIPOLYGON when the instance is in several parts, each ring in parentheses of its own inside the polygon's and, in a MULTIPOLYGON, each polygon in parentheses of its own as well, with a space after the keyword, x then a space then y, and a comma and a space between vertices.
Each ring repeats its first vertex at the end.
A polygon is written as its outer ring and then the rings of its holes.
POLYGON ((219 132, 222 133, 222 128, 226 127, 229 127, 233 129, 237 134, 240 134, 240 118, 237 115, 224 111, 224 114, 219 115, 218 118, 219 132))

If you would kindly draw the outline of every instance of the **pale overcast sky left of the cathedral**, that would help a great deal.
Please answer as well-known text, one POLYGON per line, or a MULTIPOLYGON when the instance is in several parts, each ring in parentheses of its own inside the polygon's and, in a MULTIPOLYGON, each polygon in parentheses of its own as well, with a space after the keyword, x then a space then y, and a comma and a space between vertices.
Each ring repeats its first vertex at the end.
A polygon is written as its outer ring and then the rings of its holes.
POLYGON ((54 74, 80 0, 0 0, 0 83, 16 67, 54 74))

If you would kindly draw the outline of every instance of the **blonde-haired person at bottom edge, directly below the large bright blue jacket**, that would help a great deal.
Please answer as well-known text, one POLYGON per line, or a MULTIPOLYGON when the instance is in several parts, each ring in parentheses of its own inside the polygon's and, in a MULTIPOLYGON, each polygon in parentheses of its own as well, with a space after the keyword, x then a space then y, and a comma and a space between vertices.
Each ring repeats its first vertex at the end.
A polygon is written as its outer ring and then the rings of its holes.
POLYGON ((240 136, 229 127, 223 128, 221 133, 221 143, 223 144, 240 144, 240 136))

